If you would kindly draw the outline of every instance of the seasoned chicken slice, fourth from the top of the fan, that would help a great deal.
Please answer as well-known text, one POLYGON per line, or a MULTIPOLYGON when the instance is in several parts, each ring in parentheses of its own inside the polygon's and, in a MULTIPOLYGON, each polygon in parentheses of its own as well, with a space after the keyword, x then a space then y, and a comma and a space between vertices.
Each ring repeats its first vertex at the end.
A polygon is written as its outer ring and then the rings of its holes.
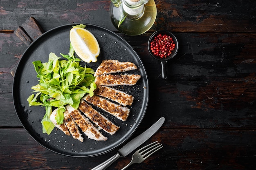
POLYGON ((93 104, 94 106, 97 106, 97 107, 101 108, 102 110, 105 110, 106 112, 110 113, 111 115, 114 115, 115 117, 117 117, 118 119, 120 119, 122 121, 126 121, 126 119, 129 116, 129 113, 130 113, 129 108, 112 103, 102 97, 99 97, 96 95, 90 97, 90 95, 86 95, 85 97, 83 97, 83 99, 85 101, 93 104))

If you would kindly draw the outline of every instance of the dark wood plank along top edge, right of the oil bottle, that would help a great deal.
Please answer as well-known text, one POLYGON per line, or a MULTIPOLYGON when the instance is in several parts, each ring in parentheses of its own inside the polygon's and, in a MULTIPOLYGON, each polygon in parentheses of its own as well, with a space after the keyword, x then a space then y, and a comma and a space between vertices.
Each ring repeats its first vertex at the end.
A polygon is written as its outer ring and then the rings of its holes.
POLYGON ((160 2, 156 28, 175 32, 255 32, 255 5, 250 0, 160 2))

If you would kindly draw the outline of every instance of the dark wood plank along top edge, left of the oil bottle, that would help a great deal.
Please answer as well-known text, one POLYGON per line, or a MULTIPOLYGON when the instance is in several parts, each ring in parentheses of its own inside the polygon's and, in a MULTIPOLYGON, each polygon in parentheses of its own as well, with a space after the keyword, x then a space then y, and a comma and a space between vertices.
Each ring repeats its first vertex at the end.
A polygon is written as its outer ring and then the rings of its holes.
POLYGON ((3 17, 0 19, 2 22, 0 30, 6 28, 15 30, 29 17, 36 18, 43 30, 70 23, 90 23, 111 30, 115 29, 110 18, 106 20, 106 16, 109 15, 109 0, 87 2, 80 2, 79 0, 70 2, 23 0, 13 4, 2 1, 0 3, 3 13, 3 17))

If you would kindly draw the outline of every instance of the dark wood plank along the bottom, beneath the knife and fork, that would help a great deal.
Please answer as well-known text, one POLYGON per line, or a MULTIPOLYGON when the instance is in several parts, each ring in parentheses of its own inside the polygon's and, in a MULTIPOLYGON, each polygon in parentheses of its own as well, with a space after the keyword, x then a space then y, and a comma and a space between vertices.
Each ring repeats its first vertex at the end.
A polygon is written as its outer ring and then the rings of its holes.
MULTIPOLYGON (((116 150, 98 157, 66 157, 40 146, 23 129, 0 129, 0 169, 91 169, 116 150), (27 147, 29 146, 29 147, 27 147)), ((132 169, 189 170, 256 168, 254 130, 159 130, 144 145, 160 141, 164 149, 132 169), (165 163, 162 163, 164 161, 165 163)), ((109 169, 121 169, 131 155, 119 158, 109 169)))

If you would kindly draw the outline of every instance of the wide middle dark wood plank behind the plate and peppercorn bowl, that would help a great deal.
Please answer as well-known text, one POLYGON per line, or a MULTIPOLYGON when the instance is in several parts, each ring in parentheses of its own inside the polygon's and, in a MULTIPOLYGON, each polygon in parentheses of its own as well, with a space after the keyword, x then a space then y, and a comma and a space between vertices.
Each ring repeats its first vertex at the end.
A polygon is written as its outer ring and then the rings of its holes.
MULTIPOLYGON (((12 115, 12 119, 16 115, 11 103, 13 77, 9 71, 26 46, 14 34, 1 35, 4 40, 0 41, 0 57, 5 62, 0 62, 0 91, 9 93, 2 101, 10 102, 0 105, 1 110, 6 110, 0 115, 5 118, 0 119, 0 126, 9 126, 6 117, 12 115), (11 45, 17 48, 12 51, 11 45)), ((176 33, 180 50, 175 60, 167 63, 166 80, 161 79, 160 63, 147 51, 149 35, 123 36, 135 48, 150 75, 148 115, 157 113, 171 120, 166 128, 255 128, 256 34, 176 33)), ((150 117, 145 118, 150 121, 150 117)), ((14 122, 13 126, 20 126, 18 121, 14 122)))

